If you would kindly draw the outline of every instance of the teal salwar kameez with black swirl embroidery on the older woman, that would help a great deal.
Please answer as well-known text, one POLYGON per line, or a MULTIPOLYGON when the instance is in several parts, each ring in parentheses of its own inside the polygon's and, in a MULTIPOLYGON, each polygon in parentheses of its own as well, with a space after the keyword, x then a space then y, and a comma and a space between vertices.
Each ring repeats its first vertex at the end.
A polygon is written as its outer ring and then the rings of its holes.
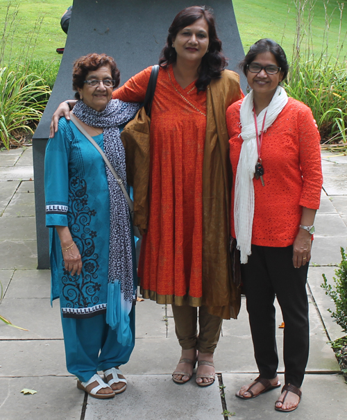
MULTIPOLYGON (((103 149, 103 134, 93 138, 103 149)), ((67 369, 86 382, 96 371, 119 366, 130 358, 135 344, 136 267, 133 264, 133 305, 124 309, 120 281, 108 278, 110 196, 105 163, 65 118, 60 119, 56 137, 47 144, 44 177, 51 301, 60 298, 67 369), (65 270, 54 226, 69 226, 81 253, 79 276, 65 270)), ((132 253, 135 262, 133 237, 125 237, 125 241, 129 243, 124 252, 132 253)))

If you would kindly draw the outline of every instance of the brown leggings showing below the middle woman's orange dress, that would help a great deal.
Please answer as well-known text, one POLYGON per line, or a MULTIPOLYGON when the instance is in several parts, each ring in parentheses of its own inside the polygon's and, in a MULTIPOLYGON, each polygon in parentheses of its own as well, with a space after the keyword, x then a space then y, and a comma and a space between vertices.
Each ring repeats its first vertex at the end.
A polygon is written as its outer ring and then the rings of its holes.
POLYGON ((183 350, 196 348, 201 353, 214 353, 217 347, 223 319, 208 313, 206 306, 178 306, 172 304, 176 335, 183 350), (199 333, 197 330, 197 321, 199 333))

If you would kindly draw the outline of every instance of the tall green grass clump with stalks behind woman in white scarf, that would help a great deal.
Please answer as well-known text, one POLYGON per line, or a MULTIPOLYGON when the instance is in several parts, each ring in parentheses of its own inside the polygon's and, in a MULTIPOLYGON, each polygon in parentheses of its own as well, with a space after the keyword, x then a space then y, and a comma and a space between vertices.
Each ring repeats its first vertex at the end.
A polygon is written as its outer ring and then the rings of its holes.
POLYGON ((322 144, 332 150, 347 153, 347 65, 341 57, 346 35, 341 33, 344 3, 336 2, 335 10, 328 14, 325 7, 325 28, 321 53, 314 54, 312 19, 316 0, 294 0, 296 7, 296 35, 291 67, 285 89, 294 99, 310 106, 321 133, 322 144), (337 44, 329 44, 330 24, 339 18, 337 44))

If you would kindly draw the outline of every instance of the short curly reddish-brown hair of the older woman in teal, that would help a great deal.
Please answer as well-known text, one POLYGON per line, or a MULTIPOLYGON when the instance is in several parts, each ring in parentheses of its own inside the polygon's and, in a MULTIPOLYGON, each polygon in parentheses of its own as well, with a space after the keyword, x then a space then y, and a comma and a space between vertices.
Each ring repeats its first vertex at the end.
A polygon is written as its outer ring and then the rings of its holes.
POLYGON ((116 82, 114 88, 116 88, 119 85, 121 78, 117 64, 112 57, 106 56, 106 54, 91 53, 87 54, 87 56, 78 58, 74 62, 74 68, 72 70, 72 89, 76 91, 76 99, 81 99, 80 94, 77 92, 77 87, 80 89, 83 88, 87 74, 104 66, 110 67, 112 79, 116 82))

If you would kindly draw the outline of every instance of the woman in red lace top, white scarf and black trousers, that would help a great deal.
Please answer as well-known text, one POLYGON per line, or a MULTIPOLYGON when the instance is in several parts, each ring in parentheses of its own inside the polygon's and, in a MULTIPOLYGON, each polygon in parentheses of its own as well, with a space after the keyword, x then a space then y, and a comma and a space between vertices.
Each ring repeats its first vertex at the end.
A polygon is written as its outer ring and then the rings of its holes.
POLYGON ((260 376, 236 395, 254 398, 280 387, 277 296, 285 321, 285 386, 275 409, 289 412, 300 401, 308 358, 305 285, 321 197, 320 137, 310 108, 279 85, 288 63, 276 42, 256 42, 241 67, 251 92, 226 116, 234 178, 231 224, 260 376))

